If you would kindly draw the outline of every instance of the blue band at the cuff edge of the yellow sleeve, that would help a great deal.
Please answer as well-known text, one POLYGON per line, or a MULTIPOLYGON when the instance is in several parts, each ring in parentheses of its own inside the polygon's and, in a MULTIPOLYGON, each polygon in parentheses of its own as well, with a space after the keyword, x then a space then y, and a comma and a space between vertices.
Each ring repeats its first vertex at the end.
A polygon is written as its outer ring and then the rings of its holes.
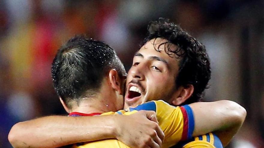
POLYGON ((190 139, 193 135, 194 130, 194 118, 193 118, 193 110, 188 105, 183 106, 187 112, 188 115, 188 134, 187 139, 190 139))

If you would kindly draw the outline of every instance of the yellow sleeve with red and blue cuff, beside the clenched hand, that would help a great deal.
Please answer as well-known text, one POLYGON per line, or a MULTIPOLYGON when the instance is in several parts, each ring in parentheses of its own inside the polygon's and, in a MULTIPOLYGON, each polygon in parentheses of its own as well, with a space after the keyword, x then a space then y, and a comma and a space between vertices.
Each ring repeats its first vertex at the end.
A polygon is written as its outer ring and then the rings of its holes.
POLYGON ((171 147, 179 141, 189 140, 192 137, 194 119, 192 109, 188 105, 175 107, 158 100, 129 108, 129 111, 134 110, 152 110, 156 112, 159 126, 165 135, 163 141, 165 147, 171 147))

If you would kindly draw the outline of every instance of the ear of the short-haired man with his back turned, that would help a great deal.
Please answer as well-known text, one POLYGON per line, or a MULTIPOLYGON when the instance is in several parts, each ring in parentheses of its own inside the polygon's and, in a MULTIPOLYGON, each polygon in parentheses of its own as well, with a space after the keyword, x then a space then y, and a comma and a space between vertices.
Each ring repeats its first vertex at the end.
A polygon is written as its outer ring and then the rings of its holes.
POLYGON ((119 94, 122 94, 122 89, 121 89, 122 79, 119 77, 118 72, 115 69, 111 69, 109 71, 108 77, 109 77, 112 88, 116 90, 119 94))

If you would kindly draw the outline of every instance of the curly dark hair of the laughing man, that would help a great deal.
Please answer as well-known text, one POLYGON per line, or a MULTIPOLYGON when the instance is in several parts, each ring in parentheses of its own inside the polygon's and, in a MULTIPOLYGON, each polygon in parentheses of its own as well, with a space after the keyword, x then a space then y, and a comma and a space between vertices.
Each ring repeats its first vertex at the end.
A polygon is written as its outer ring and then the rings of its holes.
MULTIPOLYGON (((205 46, 178 25, 163 18, 149 24, 148 35, 143 44, 156 38, 166 39, 167 42, 163 43, 168 45, 165 52, 170 57, 175 56, 180 59, 176 87, 187 87, 190 84, 194 87, 192 96, 184 104, 200 101, 211 77, 210 61, 205 46), (170 48, 171 44, 176 45, 177 48, 170 48)), ((160 52, 159 47, 155 48, 158 52, 160 52)))

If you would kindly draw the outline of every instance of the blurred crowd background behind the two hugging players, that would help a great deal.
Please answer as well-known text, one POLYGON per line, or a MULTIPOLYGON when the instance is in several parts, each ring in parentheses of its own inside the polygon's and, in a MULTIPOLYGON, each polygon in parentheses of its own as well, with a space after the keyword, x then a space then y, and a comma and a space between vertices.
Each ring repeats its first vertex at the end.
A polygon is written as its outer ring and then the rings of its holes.
POLYGON ((263 148, 263 8, 261 0, 0 0, 0 147, 11 147, 16 122, 66 115, 50 76, 62 43, 80 33, 105 41, 129 70, 148 23, 164 17, 207 48, 212 76, 204 100, 247 109, 229 148, 263 148))

